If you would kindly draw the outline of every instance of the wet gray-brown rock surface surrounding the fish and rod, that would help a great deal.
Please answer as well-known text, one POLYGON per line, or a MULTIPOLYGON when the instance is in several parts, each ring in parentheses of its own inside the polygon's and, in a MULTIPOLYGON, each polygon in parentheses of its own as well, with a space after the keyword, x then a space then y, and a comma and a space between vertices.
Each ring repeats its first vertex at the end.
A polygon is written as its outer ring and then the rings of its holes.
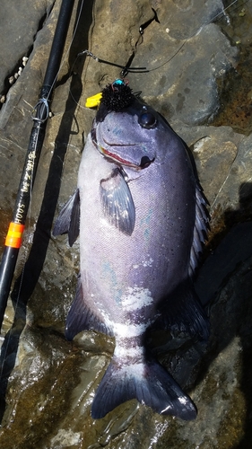
MULTIPOLYGON (((0 92, 5 92, 4 81, 13 75, 22 56, 29 55, 29 60, 6 92, 0 110, 0 250, 12 216, 32 126, 30 114, 38 101, 60 6, 58 0, 2 3, 0 92), (21 21, 22 15, 25 20, 21 21), (14 36, 21 37, 16 40, 14 36)), ((216 128, 211 120, 222 105, 225 79, 239 73, 244 48, 249 45, 251 1, 230 13, 230 25, 229 11, 222 21, 211 22, 222 11, 219 0, 88 1, 83 4, 70 47, 77 6, 74 4, 51 106, 53 117, 48 120, 1 331, 0 446, 250 447, 252 141, 251 135, 236 133, 228 126, 216 128), (141 37, 139 27, 153 17, 152 7, 160 23, 151 22, 141 37), (83 332, 74 343, 64 338, 79 248, 76 242, 70 249, 65 236, 52 238, 51 228, 75 188, 83 142, 95 115, 95 110, 85 108, 85 99, 119 76, 114 66, 99 64, 91 57, 76 59, 86 48, 121 65, 135 52, 132 66, 146 66, 149 72, 129 73, 130 86, 134 92, 141 90, 143 99, 190 145, 209 199, 212 233, 196 288, 210 313, 211 339, 204 346, 170 339, 165 333, 152 336, 153 350, 196 402, 195 422, 161 417, 136 401, 93 420, 91 401, 109 364, 113 339, 95 332, 83 332)))

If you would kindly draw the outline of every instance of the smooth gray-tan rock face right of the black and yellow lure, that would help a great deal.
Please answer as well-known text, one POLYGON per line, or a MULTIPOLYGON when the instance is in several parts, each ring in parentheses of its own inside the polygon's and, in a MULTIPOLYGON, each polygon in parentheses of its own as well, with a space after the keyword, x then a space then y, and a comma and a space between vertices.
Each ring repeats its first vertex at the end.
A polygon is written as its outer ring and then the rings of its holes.
MULTIPOLYGON (((143 34, 134 61, 149 70, 145 79, 150 89, 143 97, 169 121, 201 124, 220 107, 217 80, 236 66, 238 56, 238 49, 210 23, 221 9, 218 1, 208 8, 200 2, 176 2, 158 9, 160 23, 152 22, 143 34)), ((132 77, 136 90, 143 90, 141 75, 132 77)))

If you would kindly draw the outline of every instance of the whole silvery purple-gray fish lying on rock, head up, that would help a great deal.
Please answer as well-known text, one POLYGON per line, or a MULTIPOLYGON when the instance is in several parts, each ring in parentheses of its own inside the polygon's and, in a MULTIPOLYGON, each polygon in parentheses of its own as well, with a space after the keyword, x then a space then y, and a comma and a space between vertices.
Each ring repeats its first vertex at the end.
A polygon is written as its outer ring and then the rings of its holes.
POLYGON ((187 145, 123 80, 108 84, 83 149, 77 189, 53 235, 80 234, 80 274, 65 338, 115 337, 91 406, 103 418, 136 399, 162 415, 196 418, 195 403, 152 356, 158 328, 207 340, 194 277, 209 228, 207 200, 187 145))

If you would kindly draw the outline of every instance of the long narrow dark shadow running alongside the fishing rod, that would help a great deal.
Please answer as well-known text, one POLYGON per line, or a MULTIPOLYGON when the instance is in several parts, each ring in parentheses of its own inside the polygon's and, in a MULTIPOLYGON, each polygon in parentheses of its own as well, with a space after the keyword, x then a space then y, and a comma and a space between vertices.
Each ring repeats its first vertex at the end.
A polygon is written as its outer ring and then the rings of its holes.
MULTIPOLYGON (((79 1, 76 18, 81 7, 82 1, 79 1)), ((76 19, 77 20, 77 19, 76 19)), ((69 54, 69 66, 72 67, 76 54, 87 48, 88 31, 92 20, 92 0, 85 4, 85 10, 80 18, 79 26, 74 36, 74 42, 69 54)), ((75 29, 75 26, 74 26, 75 29)), ((84 58, 78 63, 79 72, 83 70, 84 58)), ((71 74, 70 74, 71 75, 71 74)), ((65 154, 69 136, 71 135, 71 126, 74 117, 74 110, 82 95, 83 86, 81 78, 78 75, 72 77, 70 92, 74 92, 74 100, 69 94, 65 101, 65 113, 63 115, 60 127, 55 141, 54 154, 51 159, 48 172, 48 180, 44 191, 39 218, 36 225, 36 231, 33 235, 33 243, 30 249, 29 258, 25 263, 22 275, 18 277, 13 286, 12 300, 15 309, 13 327, 7 333, 1 350, 1 387, 0 387, 0 421, 4 416, 5 393, 9 375, 11 374, 16 353, 19 346, 19 339, 26 322, 26 306, 30 295, 32 294, 43 268, 43 264, 48 251, 51 228, 56 211, 56 204, 61 184, 61 175, 63 172, 65 154), (64 144, 62 144, 64 142, 64 144)))

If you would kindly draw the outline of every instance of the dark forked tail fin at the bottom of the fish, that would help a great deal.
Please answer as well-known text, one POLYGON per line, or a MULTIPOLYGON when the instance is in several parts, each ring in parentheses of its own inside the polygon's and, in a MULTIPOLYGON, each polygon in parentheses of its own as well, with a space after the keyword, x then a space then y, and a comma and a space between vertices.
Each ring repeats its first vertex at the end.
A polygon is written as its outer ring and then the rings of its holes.
POLYGON ((184 420, 196 418, 196 406, 178 383, 158 363, 122 365, 113 357, 96 392, 92 418, 103 418, 109 411, 131 399, 137 399, 160 414, 184 420))

